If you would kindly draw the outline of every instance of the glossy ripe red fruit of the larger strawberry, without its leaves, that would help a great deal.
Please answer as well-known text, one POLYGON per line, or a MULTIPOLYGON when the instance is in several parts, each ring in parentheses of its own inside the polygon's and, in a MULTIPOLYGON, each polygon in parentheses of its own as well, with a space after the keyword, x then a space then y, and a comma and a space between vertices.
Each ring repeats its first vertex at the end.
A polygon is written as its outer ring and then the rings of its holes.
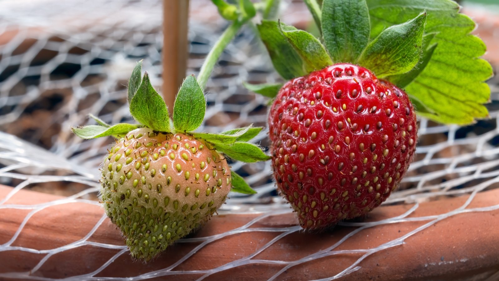
POLYGON ((380 205, 398 187, 417 141, 407 94, 349 63, 285 83, 268 123, 278 189, 310 229, 380 205))

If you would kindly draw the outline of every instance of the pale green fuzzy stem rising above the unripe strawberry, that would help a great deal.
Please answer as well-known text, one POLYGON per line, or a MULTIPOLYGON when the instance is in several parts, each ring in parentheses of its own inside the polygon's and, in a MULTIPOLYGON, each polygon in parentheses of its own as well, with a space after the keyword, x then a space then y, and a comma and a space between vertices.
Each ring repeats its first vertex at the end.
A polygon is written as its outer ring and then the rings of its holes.
POLYGON ((242 20, 234 20, 229 27, 222 33, 218 41, 215 43, 213 48, 210 50, 210 53, 208 53, 208 56, 205 59, 205 62, 203 63, 203 66, 201 66, 201 70, 199 71, 198 75, 198 83, 201 85, 201 88, 204 89, 206 86, 206 83, 208 82, 208 78, 210 77, 210 74, 213 70, 213 67, 215 67, 215 63, 217 63, 220 55, 224 51, 225 47, 229 44, 229 42, 236 36, 238 33, 239 29, 245 24, 245 22, 248 19, 242 19, 242 20))

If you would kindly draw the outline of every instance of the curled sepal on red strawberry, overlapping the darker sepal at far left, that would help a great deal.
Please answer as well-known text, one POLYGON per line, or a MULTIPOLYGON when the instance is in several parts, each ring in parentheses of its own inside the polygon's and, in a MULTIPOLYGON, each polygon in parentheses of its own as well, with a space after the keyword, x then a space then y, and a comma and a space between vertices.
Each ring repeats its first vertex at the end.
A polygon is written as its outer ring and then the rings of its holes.
POLYGON ((307 73, 333 64, 324 46, 312 34, 304 30, 286 28, 284 23, 281 23, 280 26, 282 33, 303 60, 303 66, 307 73))

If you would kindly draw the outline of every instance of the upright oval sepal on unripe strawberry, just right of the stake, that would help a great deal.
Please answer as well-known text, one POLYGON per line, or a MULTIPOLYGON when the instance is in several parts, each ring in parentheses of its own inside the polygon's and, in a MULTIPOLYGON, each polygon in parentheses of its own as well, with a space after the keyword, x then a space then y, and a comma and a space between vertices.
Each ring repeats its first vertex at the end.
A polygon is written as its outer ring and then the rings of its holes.
POLYGON ((193 131, 205 118, 206 100, 194 75, 185 78, 173 105, 173 125, 177 131, 193 131))

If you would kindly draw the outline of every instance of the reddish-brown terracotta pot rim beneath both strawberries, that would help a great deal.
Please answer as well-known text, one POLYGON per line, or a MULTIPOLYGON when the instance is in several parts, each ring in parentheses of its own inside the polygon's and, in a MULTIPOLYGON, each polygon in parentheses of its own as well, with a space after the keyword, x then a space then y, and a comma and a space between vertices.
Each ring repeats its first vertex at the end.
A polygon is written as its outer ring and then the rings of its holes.
MULTIPOLYGON (((0 198, 11 190, 0 186, 0 198)), ((215 215, 144 264, 131 259, 100 205, 20 190, 0 206, 0 278, 303 280, 357 268, 340 279, 497 280, 499 189, 459 209, 469 198, 381 206, 324 233, 302 231, 290 211, 215 215)))

